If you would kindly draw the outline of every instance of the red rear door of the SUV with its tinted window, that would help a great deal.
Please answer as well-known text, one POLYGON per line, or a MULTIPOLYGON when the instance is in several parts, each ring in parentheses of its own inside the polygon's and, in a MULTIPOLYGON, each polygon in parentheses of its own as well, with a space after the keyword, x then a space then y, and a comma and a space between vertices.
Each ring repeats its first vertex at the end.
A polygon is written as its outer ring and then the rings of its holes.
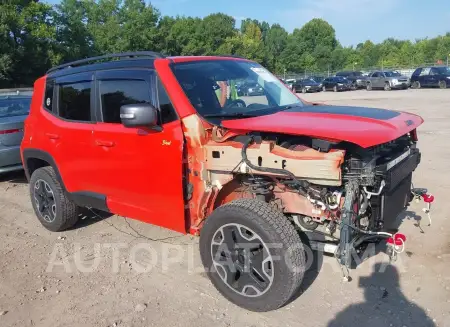
POLYGON ((35 126, 43 131, 36 133, 44 139, 39 144, 53 156, 69 192, 89 191, 98 170, 92 147, 93 73, 58 77, 53 87, 48 82, 42 110, 46 119, 35 126))

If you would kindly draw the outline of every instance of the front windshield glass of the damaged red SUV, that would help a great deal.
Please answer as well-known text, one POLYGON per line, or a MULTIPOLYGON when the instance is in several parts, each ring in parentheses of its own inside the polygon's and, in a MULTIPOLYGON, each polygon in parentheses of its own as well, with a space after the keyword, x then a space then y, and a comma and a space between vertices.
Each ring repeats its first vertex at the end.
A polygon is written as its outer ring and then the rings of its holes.
POLYGON ((257 63, 208 60, 172 66, 191 104, 204 117, 259 116, 303 103, 257 63))

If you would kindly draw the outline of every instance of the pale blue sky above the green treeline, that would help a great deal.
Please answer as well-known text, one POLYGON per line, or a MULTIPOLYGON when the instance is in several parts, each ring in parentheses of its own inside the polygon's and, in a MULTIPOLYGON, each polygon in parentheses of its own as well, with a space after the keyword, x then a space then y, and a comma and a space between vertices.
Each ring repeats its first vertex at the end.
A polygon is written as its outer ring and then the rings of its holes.
MULTIPOLYGON (((148 0, 147 0, 148 1, 148 0)), ((58 0, 47 0, 58 3, 58 0)), ((237 25, 245 18, 278 23, 292 32, 313 18, 323 18, 344 46, 388 37, 436 37, 450 32, 449 0, 153 0, 162 15, 204 17, 222 12, 237 25)))

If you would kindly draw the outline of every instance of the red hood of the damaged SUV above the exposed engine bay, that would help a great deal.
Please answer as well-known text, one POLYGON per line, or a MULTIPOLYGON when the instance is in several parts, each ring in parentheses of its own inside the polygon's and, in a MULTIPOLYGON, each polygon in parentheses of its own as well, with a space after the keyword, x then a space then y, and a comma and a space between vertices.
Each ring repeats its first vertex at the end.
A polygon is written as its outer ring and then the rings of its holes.
POLYGON ((392 141, 423 123, 419 116, 402 112, 389 120, 350 115, 278 112, 273 115, 227 120, 222 126, 241 131, 307 135, 358 144, 363 148, 392 141), (406 125, 405 120, 411 120, 406 125))

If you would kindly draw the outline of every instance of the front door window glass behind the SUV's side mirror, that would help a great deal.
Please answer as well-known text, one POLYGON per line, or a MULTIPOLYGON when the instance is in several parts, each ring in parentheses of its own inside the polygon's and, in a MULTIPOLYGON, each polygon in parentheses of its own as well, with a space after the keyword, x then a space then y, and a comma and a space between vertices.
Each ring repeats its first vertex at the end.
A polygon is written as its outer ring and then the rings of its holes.
POLYGON ((151 104, 150 85, 144 80, 101 80, 99 92, 105 123, 121 123, 121 106, 151 104))

